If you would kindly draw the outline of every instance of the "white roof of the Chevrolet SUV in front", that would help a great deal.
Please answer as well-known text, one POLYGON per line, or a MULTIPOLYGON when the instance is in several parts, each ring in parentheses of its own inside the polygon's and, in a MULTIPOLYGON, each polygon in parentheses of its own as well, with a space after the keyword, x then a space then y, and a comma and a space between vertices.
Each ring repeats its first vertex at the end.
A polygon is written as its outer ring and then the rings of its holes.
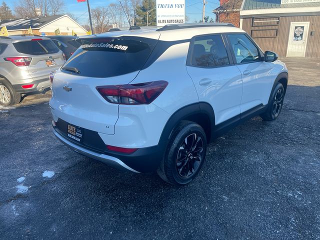
POLYGON ((80 39, 96 37, 140 36, 165 41, 190 39, 195 35, 224 32, 245 32, 230 23, 169 24, 163 27, 110 31, 79 36, 80 39))

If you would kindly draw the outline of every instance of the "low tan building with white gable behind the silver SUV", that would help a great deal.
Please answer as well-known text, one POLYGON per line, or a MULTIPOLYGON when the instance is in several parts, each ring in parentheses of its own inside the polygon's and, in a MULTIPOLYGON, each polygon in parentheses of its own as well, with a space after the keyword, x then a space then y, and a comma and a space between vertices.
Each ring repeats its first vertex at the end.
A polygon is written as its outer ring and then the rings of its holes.
POLYGON ((9 35, 28 34, 31 27, 32 33, 37 35, 55 35, 59 28, 61 35, 71 35, 72 30, 79 35, 85 35, 86 30, 68 15, 38 16, 15 20, 3 20, 1 25, 6 26, 9 35))

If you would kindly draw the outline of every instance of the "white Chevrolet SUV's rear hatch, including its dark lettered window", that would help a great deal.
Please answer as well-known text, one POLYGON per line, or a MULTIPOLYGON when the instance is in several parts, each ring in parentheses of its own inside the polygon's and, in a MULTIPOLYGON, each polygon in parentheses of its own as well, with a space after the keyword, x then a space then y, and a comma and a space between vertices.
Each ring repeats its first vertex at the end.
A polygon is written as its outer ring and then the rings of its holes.
POLYGON ((97 86, 132 81, 157 39, 120 36, 86 38, 54 74, 50 106, 53 116, 93 131, 114 134, 118 104, 106 101, 97 86))

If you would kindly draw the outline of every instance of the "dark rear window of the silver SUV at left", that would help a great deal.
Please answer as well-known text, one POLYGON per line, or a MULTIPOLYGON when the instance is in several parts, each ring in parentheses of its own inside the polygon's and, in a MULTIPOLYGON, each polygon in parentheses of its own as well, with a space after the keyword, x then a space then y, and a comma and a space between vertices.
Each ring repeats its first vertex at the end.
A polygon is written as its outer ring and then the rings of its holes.
POLYGON ((44 55, 59 51, 51 40, 19 41, 14 42, 13 46, 18 52, 30 55, 44 55))

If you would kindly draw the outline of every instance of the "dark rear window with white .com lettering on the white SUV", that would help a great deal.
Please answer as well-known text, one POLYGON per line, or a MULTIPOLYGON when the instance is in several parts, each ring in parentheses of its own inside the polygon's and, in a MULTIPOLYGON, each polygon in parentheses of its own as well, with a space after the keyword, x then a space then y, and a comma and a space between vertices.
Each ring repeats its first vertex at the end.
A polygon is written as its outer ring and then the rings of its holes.
POLYGON ((157 40, 131 36, 81 41, 61 70, 89 77, 111 77, 140 70, 157 40), (77 73, 66 68, 76 68, 77 73))

